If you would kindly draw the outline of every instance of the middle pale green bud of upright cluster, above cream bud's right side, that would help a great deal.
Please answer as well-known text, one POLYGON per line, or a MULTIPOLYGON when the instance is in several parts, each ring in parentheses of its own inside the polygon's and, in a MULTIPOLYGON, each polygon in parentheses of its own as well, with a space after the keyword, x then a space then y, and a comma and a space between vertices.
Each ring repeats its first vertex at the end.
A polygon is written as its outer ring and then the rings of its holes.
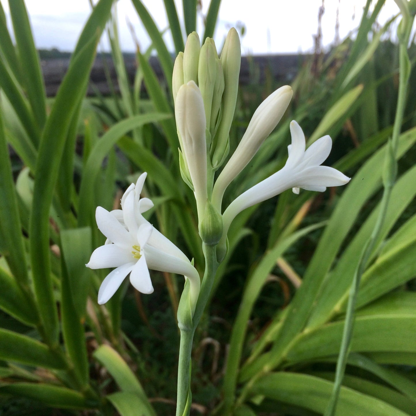
POLYGON ((217 72, 215 54, 215 46, 210 42, 210 38, 207 37, 205 43, 201 47, 201 53, 199 54, 198 87, 201 90, 202 98, 204 100, 205 117, 208 129, 210 126, 211 106, 217 72))

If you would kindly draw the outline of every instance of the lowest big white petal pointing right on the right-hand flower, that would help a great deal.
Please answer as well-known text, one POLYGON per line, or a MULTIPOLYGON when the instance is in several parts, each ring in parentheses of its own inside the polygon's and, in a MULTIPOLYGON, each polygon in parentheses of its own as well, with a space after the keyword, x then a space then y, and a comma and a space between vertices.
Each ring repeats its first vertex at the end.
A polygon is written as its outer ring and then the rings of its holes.
POLYGON ((329 166, 312 166, 303 170, 298 178, 297 186, 299 188, 311 186, 341 186, 348 183, 350 178, 337 169, 329 166))

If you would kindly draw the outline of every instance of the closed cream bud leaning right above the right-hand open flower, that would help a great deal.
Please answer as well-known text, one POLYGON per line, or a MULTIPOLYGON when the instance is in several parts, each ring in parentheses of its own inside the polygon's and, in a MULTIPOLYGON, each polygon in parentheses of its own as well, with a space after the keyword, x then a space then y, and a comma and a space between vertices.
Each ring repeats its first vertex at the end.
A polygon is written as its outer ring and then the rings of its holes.
POLYGON ((221 201, 227 186, 247 166, 285 114, 292 95, 293 91, 289 85, 280 87, 270 94, 254 112, 237 149, 215 181, 213 201, 217 209, 221 208, 221 201))

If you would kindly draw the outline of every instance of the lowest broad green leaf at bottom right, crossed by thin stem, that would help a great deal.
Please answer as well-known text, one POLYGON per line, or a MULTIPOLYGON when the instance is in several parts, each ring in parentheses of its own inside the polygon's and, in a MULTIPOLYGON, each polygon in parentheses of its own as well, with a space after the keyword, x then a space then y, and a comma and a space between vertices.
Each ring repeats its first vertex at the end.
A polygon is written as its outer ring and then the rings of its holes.
MULTIPOLYGON (((272 373, 258 380, 251 391, 253 394, 262 394, 273 400, 323 414, 331 395, 332 384, 305 374, 272 373)), ((408 416, 384 401, 343 386, 339 394, 337 416, 351 415, 408 416)))

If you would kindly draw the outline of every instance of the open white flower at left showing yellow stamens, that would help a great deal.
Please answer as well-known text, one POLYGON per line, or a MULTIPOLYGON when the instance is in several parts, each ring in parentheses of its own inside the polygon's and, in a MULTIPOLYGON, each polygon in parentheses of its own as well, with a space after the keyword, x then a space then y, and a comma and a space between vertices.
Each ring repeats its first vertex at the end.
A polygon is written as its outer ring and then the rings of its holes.
POLYGON ((107 241, 94 250, 86 266, 91 269, 116 267, 103 280, 98 292, 98 303, 106 303, 129 273, 131 284, 139 292, 152 293, 151 269, 188 278, 194 311, 200 287, 198 272, 186 255, 141 215, 153 206, 148 198, 140 199, 145 178, 146 173, 139 177, 136 185, 132 183, 127 188, 121 199, 121 210, 109 212, 97 207, 97 225, 107 241))

